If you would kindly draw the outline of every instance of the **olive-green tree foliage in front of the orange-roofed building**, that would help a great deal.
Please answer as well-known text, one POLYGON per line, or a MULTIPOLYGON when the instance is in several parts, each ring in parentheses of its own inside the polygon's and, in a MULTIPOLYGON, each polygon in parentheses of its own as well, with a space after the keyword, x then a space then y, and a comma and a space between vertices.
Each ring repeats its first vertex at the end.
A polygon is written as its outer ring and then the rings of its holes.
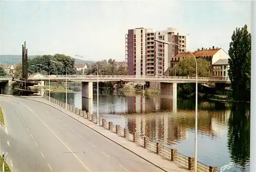
MULTIPOLYGON (((198 58, 197 59, 198 66, 198 76, 199 77, 210 77, 211 73, 208 72, 209 61, 206 59, 198 58)), ((196 63, 194 57, 185 58, 179 61, 176 64, 176 67, 173 67, 170 70, 170 76, 196 76, 196 63), (176 68, 176 69, 175 69, 176 68)))

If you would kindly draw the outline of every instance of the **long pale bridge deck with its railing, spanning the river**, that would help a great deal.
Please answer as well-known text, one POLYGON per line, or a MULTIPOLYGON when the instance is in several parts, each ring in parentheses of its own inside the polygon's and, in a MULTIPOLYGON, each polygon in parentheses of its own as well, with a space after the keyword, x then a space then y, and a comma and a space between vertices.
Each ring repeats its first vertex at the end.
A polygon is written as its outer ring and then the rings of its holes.
MULTIPOLYGON (((28 80, 51 80, 51 81, 66 81, 66 75, 42 75, 29 76, 28 80)), ((151 81, 151 82, 166 82, 166 83, 189 83, 196 82, 196 77, 189 76, 136 76, 136 75, 67 75, 68 81, 73 82, 109 82, 109 81, 151 81)), ((199 83, 219 82, 230 83, 229 79, 214 78, 214 77, 198 77, 199 83)))

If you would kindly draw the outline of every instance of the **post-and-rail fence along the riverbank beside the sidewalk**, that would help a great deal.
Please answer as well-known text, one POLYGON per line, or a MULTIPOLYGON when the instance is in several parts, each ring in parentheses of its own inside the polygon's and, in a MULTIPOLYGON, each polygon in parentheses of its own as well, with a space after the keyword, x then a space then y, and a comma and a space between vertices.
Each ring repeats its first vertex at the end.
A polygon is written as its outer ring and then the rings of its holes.
MULTIPOLYGON (((49 96, 44 95, 44 98, 49 100, 49 96)), ((53 103, 56 103, 57 105, 60 105, 63 108, 66 108, 66 102, 50 98, 50 101, 53 103)), ((89 114, 86 111, 82 111, 81 109, 78 109, 72 104, 68 104, 67 109, 81 117, 84 117, 94 123, 97 123, 97 116, 93 114, 89 114)), ((113 133, 116 133, 119 136, 122 136, 138 145, 140 145, 143 148, 146 148, 148 150, 151 150, 151 152, 154 152, 155 154, 158 154, 164 158, 166 158, 169 161, 173 161, 176 163, 179 163, 181 166, 188 170, 194 169, 194 158, 193 157, 187 157, 183 154, 178 153, 178 150, 175 148, 169 148, 165 145, 163 145, 160 142, 154 142, 149 137, 146 137, 144 135, 131 132, 127 130, 127 128, 122 128, 120 125, 115 125, 111 121, 107 121, 103 118, 103 116, 99 117, 99 125, 110 130, 113 133)), ((208 166, 203 163, 198 162, 198 171, 199 172, 217 172, 217 167, 214 166, 208 166)))

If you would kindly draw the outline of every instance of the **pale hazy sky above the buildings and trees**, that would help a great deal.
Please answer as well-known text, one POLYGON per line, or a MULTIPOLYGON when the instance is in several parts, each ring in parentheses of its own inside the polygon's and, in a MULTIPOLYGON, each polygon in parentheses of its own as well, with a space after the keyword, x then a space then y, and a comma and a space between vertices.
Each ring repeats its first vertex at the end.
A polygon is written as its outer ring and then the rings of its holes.
POLYGON ((125 59, 128 29, 177 28, 187 48, 228 51, 236 27, 251 31, 250 1, 2 1, 0 54, 66 54, 84 60, 125 59))

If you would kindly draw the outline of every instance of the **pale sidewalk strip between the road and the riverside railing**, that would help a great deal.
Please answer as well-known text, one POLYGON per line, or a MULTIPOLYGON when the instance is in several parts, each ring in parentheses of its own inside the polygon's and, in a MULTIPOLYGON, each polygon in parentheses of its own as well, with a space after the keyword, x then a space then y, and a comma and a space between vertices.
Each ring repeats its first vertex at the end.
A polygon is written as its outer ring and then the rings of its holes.
POLYGON ((127 140, 126 138, 123 138, 123 137, 121 137, 121 136, 119 136, 115 133, 112 133, 111 131, 106 130, 102 126, 98 126, 97 124, 89 121, 86 118, 83 118, 79 115, 76 115, 75 113, 72 113, 72 112, 70 112, 66 109, 63 109, 62 107, 58 106, 57 104, 52 103, 52 102, 50 102, 50 101, 48 101, 44 98, 26 98, 26 99, 42 102, 42 103, 51 105, 52 107, 55 107, 56 109, 60 110, 61 112, 69 115, 70 117, 72 117, 72 118, 80 121, 84 125, 90 127, 95 132, 97 132, 97 133, 101 134, 102 136, 112 140, 113 142, 117 143, 118 145, 122 146, 123 148, 126 148, 127 150, 130 150, 131 152, 138 155, 142 159, 158 166, 159 168, 161 168, 164 171, 169 171, 169 172, 189 171, 189 170, 185 169, 184 167, 182 167, 181 165, 179 165, 178 163, 174 163, 172 161, 166 160, 163 157, 151 152, 150 150, 145 149, 145 148, 137 145, 136 143, 133 143, 133 142, 127 140))

